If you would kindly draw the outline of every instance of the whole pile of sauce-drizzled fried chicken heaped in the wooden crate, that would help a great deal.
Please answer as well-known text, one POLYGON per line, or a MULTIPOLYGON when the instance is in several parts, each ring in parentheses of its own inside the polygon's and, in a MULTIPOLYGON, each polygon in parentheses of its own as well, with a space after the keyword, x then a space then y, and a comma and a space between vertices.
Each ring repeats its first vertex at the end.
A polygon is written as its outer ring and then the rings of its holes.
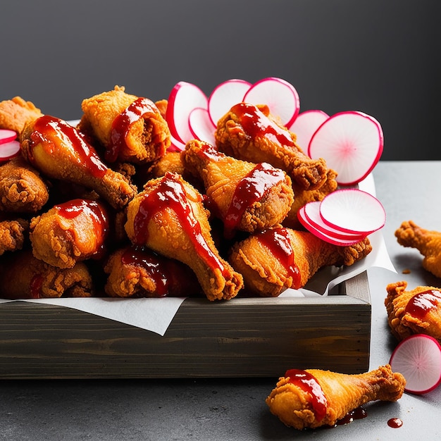
POLYGON ((74 127, 20 97, 0 103, 21 147, 0 164, 4 295, 275 297, 371 251, 302 230, 297 210, 335 191, 336 173, 267 106, 232 106, 216 145, 182 152, 166 100, 116 86, 81 108, 74 127))

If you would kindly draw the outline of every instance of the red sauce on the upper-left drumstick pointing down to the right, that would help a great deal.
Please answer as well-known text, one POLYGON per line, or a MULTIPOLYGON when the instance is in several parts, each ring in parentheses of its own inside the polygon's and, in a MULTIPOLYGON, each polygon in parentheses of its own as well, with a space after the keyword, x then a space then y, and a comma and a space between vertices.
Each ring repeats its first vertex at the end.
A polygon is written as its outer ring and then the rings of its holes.
MULTIPOLYGON (((30 135, 31 154, 33 147, 40 143, 44 144, 46 148, 50 147, 49 154, 53 154, 59 149, 51 141, 51 137, 60 139, 63 142, 63 148, 71 151, 72 156, 79 161, 78 166, 87 170, 87 173, 91 173, 95 178, 102 178, 106 174, 107 167, 99 159, 94 148, 87 143, 81 132, 66 121, 54 116, 44 115, 35 121, 34 130, 30 135)), ((32 157, 30 160, 33 162, 32 157)))

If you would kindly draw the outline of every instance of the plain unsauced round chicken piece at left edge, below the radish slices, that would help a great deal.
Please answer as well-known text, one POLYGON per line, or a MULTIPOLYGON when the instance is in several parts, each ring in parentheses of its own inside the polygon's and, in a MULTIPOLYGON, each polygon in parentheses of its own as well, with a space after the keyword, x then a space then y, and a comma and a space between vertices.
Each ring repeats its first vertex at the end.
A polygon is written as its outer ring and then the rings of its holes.
POLYGON ((0 211, 36 213, 48 199, 46 182, 22 156, 0 166, 0 211))

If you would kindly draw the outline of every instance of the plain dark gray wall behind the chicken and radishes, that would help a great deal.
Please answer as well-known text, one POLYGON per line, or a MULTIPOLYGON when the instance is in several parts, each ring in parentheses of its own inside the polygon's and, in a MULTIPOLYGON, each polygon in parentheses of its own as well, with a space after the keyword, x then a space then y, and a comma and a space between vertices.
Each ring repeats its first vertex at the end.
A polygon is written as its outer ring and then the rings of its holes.
POLYGON ((277 76, 301 111, 360 110, 383 126, 383 160, 441 159, 439 0, 6 0, 0 100, 80 118, 83 98, 124 85, 167 98, 180 80, 277 76))

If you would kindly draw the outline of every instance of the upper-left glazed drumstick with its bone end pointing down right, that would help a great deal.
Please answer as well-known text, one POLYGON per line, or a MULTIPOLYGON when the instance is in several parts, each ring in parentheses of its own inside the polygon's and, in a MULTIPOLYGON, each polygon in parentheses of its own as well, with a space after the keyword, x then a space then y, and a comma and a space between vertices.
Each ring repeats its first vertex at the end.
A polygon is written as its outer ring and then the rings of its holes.
POLYGON ((23 155, 46 177, 95 190, 113 208, 123 208, 136 189, 108 168, 82 134, 59 118, 42 116, 21 134, 23 155))

